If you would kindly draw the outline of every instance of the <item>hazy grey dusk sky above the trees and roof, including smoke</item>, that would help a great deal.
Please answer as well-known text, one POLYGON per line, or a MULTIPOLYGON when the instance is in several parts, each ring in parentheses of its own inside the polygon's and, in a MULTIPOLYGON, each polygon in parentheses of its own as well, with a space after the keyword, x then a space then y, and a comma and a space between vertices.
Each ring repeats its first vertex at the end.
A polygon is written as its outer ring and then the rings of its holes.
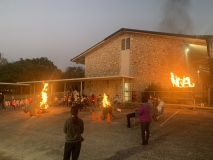
POLYGON ((212 0, 0 0, 0 53, 65 71, 120 28, 213 35, 212 0), (172 24, 171 24, 172 23, 172 24))

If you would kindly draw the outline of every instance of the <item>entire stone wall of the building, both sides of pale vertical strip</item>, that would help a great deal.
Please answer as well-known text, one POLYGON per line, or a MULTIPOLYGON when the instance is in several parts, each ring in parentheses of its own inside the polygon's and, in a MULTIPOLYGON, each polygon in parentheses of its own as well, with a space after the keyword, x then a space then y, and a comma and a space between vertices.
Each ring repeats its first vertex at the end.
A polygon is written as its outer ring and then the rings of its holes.
MULTIPOLYGON (((127 34, 126 34, 127 35, 127 34)), ((150 84, 172 87, 171 75, 190 76, 186 63, 184 42, 178 37, 131 33, 130 37, 130 91, 143 91, 150 84)), ((85 58, 85 77, 116 76, 121 73, 121 39, 109 41, 85 58)), ((85 82, 85 94, 103 93, 122 97, 121 81, 85 82)), ((138 97, 140 99, 140 96, 138 97)))

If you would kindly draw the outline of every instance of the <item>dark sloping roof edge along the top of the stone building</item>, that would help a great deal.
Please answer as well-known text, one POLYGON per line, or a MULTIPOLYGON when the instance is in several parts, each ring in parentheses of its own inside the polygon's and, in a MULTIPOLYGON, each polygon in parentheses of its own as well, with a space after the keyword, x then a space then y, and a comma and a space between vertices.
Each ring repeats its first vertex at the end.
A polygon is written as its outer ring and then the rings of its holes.
MULTIPOLYGON (((72 58, 70 61, 84 64, 85 56, 93 49, 96 49, 98 46, 102 45, 104 42, 109 40, 110 38, 118 35, 122 35, 124 33, 142 33, 142 34, 152 34, 152 35, 161 35, 161 36, 170 36, 170 37, 180 37, 180 38, 187 38, 187 39, 194 39, 194 40, 201 40, 206 42, 210 35, 184 35, 184 34, 174 34, 174 33, 165 33, 165 32, 154 32, 154 31, 145 31, 145 30, 137 30, 137 29, 128 29, 128 28, 121 28, 118 31, 114 32, 113 34, 106 37, 104 40, 100 41, 96 45, 92 46, 91 48, 87 49, 86 51, 82 52, 81 54, 77 55, 76 57, 72 58)), ((200 43, 200 42, 199 42, 200 43)))

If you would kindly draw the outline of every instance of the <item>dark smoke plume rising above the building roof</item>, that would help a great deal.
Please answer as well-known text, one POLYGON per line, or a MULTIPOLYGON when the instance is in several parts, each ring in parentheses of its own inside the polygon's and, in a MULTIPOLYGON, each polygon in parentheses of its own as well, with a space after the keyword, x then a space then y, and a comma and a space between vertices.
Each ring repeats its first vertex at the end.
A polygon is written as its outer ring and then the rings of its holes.
POLYGON ((159 29, 163 32, 192 34, 193 24, 188 14, 190 0, 165 0, 163 19, 159 29))

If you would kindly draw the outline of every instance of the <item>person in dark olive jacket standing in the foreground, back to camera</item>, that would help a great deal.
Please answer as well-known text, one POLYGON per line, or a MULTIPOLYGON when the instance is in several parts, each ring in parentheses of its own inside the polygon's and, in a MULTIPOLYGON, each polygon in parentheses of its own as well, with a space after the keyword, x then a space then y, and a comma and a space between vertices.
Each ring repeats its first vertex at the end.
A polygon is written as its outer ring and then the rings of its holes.
POLYGON ((84 122, 78 118, 78 108, 73 106, 71 108, 71 117, 65 121, 64 133, 65 146, 64 146, 64 158, 63 160, 69 160, 72 155, 72 160, 77 160, 81 151, 81 142, 84 132, 84 122))

